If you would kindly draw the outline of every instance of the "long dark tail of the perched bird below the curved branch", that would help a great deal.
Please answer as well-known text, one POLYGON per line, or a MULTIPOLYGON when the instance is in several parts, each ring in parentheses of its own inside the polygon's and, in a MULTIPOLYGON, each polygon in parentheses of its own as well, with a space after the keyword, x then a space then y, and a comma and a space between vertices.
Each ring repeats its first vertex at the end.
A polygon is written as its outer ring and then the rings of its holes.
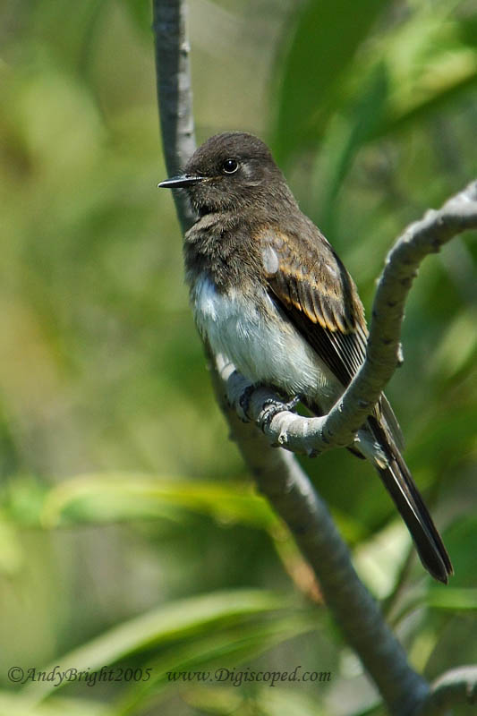
POLYGON ((375 417, 370 417, 371 431, 388 457, 388 465, 376 465, 379 476, 394 500, 413 537, 416 550, 423 566, 439 582, 447 584, 449 575, 454 573, 447 550, 428 508, 424 504, 413 477, 388 430, 375 417))

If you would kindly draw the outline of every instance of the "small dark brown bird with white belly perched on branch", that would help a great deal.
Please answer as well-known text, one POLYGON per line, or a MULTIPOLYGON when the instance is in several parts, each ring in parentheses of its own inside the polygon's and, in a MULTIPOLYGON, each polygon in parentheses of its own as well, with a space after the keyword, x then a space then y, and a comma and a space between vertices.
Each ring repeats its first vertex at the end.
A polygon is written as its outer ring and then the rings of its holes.
MULTIPOLYGON (((300 396, 322 415, 366 353, 353 279, 296 200, 268 147, 244 132, 217 134, 182 176, 197 213, 185 234, 186 280, 200 333, 255 384, 300 396)), ((350 449, 378 470, 422 564, 447 583, 452 565, 401 456, 401 430, 383 395, 350 449)))

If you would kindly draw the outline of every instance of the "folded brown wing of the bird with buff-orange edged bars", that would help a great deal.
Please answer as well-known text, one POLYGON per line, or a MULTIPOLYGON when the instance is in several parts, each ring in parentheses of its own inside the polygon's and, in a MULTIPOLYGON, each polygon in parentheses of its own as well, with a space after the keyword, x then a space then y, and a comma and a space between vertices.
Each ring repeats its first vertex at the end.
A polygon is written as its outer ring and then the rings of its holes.
POLYGON ((324 236, 312 229, 305 239, 271 229, 261 234, 268 291, 346 387, 366 355, 364 311, 353 279, 324 236))

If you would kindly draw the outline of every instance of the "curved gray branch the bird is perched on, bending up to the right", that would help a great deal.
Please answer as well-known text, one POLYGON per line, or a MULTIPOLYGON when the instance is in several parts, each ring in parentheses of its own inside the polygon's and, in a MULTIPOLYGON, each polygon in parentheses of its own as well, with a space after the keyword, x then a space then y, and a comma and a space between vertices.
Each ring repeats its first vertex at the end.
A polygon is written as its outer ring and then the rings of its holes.
POLYGON ((408 226, 388 254, 379 279, 372 309, 366 360, 332 410, 320 418, 304 418, 284 411, 272 415, 270 400, 280 397, 268 388, 252 386, 243 376, 222 366, 227 395, 243 417, 256 422, 272 445, 295 453, 315 456, 332 447, 353 443, 353 436, 365 422, 399 363, 401 325, 405 301, 422 260, 465 229, 477 228, 477 181, 448 200, 439 211, 430 210, 408 226), (244 391, 250 391, 247 415, 241 405, 244 391))

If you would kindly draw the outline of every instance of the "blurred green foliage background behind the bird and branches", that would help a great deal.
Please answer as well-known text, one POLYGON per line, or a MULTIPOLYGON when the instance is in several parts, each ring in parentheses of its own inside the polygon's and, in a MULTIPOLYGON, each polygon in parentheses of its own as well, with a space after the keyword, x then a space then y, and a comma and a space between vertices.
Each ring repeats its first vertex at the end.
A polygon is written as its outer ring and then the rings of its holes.
MULTIPOLYGON (((156 190, 149 16, 146 0, 0 9, 0 716, 364 712, 377 696, 211 395, 172 201, 156 190), (104 663, 153 678, 7 678, 104 663), (331 682, 165 676, 298 664, 331 682)), ((193 0, 190 31, 199 140, 268 140, 370 310, 396 235, 475 175, 475 3, 193 0)), ((476 251, 467 234, 422 267, 388 390, 447 525, 451 586, 409 564, 368 465, 306 461, 430 678, 477 659, 476 251)))

